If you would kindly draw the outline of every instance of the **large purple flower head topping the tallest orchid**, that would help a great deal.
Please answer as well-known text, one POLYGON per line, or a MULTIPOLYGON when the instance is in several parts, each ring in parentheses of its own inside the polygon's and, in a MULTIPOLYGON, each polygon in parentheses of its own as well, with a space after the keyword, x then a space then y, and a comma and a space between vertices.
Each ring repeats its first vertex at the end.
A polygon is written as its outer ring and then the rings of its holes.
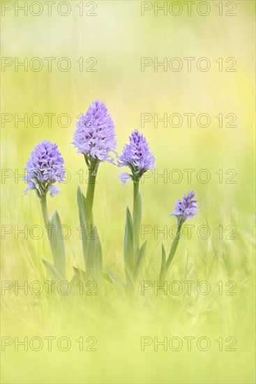
POLYGON ((80 115, 73 137, 73 145, 86 160, 113 162, 110 152, 116 148, 114 123, 103 101, 96 100, 86 114, 80 115))

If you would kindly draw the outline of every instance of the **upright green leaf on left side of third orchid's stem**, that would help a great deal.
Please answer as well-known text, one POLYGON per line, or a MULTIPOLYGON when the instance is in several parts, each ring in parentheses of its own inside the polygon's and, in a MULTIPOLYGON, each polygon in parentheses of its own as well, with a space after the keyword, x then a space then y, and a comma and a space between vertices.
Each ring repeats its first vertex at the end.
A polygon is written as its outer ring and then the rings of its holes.
POLYGON ((126 279, 129 281, 133 272, 133 220, 128 207, 126 209, 126 229, 124 232, 123 255, 126 279))

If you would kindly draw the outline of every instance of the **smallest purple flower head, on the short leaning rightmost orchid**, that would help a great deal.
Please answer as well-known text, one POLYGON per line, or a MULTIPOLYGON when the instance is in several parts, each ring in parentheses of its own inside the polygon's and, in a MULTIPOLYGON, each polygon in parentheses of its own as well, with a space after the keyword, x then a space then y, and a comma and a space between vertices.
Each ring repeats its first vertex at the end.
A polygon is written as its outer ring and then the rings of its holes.
POLYGON ((195 191, 188 191, 188 195, 183 195, 183 201, 176 200, 174 211, 170 216, 176 216, 178 225, 182 225, 184 221, 192 219, 197 214, 198 205, 195 200, 195 191))

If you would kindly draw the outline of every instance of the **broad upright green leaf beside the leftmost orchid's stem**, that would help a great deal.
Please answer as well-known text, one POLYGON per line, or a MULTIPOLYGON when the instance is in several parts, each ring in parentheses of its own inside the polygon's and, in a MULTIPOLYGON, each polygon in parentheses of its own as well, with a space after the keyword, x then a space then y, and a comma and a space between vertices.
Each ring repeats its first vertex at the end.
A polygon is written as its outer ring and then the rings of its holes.
POLYGON ((61 219, 57 211, 52 215, 50 221, 51 234, 50 245, 52 249, 52 256, 54 260, 54 267, 56 267, 63 276, 66 275, 66 256, 63 238, 59 236, 61 228, 61 219))

